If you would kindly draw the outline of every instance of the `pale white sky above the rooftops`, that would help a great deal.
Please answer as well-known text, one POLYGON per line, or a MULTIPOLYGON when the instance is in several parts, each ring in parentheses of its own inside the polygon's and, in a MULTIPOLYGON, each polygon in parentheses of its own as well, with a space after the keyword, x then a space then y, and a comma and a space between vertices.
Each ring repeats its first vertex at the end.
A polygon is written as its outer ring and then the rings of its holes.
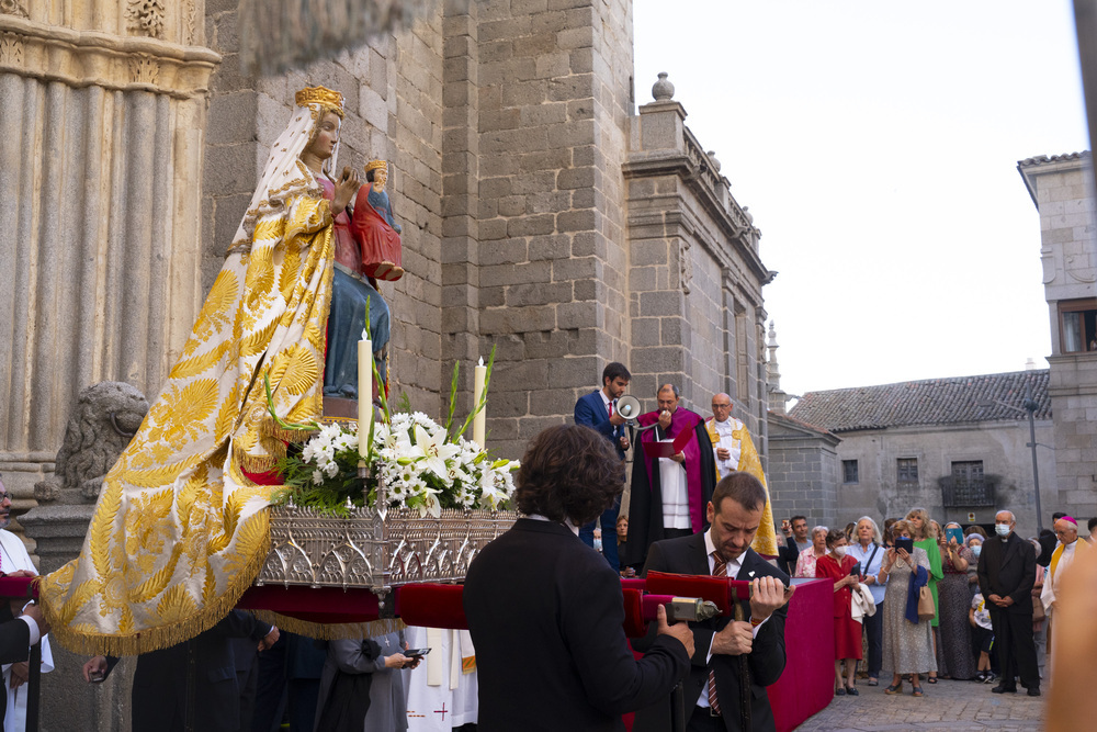
POLYGON ((1070 0, 635 0, 659 71, 779 272, 790 394, 1048 368, 1017 161, 1089 148, 1070 0))

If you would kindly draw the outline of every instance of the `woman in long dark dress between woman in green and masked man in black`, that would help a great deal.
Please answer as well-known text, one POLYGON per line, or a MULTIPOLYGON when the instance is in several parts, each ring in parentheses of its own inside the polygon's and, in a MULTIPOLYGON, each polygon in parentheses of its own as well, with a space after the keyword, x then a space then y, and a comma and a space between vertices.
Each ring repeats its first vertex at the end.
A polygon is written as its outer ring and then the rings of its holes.
POLYGON ((937 653, 941 678, 968 680, 975 677, 975 657, 971 653, 971 590, 968 589, 968 568, 975 563, 975 555, 964 545, 963 529, 955 521, 945 525, 940 541, 941 571, 937 583, 937 609, 940 612, 940 646, 937 653))

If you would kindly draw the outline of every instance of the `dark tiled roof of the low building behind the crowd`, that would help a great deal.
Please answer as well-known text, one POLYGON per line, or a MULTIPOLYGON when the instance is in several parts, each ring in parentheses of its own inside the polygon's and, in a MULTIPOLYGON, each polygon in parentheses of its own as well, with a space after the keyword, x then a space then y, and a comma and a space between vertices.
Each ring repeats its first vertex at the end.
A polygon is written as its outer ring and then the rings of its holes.
POLYGON ((1028 419, 1021 405, 1031 387, 1040 405, 1036 418, 1050 419, 1048 373, 1047 369, 1014 371, 807 392, 789 416, 832 432, 1028 419), (980 406, 980 402, 989 405, 980 406))

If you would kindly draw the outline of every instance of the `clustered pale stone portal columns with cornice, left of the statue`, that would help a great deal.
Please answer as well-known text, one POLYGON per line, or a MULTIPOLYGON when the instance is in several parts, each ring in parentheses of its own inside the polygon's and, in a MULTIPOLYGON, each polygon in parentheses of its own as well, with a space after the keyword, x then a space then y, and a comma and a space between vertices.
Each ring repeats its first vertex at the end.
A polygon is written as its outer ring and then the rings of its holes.
POLYGON ((204 0, 0 0, 0 471, 18 510, 82 386, 155 395, 201 306, 204 0))

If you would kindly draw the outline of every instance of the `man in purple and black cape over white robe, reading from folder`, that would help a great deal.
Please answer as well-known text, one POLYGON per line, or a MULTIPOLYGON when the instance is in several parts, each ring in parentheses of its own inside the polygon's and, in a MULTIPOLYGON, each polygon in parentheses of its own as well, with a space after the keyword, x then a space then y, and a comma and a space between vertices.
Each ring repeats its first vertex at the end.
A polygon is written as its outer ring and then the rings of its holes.
POLYGON ((698 533, 709 526, 705 506, 716 484, 716 464, 704 420, 679 406, 678 386, 664 384, 657 396, 658 410, 637 419, 642 427, 655 427, 643 432, 633 461, 625 566, 643 566, 655 541, 698 533), (647 452, 648 446, 683 436, 688 436, 685 447, 669 458, 647 452))

